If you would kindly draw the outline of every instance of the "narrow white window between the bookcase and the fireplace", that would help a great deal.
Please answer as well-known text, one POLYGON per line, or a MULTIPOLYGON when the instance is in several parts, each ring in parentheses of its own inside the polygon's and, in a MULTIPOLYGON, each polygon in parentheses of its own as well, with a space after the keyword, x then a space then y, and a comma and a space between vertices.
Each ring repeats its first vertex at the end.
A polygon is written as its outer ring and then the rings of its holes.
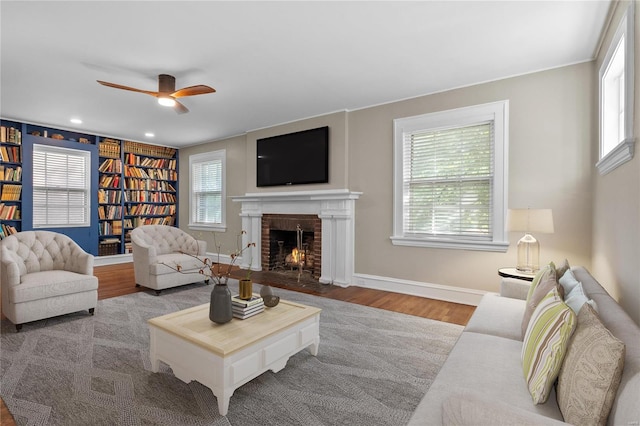
POLYGON ((226 228, 225 162, 225 150, 194 154, 189 157, 190 228, 202 230, 226 228))

